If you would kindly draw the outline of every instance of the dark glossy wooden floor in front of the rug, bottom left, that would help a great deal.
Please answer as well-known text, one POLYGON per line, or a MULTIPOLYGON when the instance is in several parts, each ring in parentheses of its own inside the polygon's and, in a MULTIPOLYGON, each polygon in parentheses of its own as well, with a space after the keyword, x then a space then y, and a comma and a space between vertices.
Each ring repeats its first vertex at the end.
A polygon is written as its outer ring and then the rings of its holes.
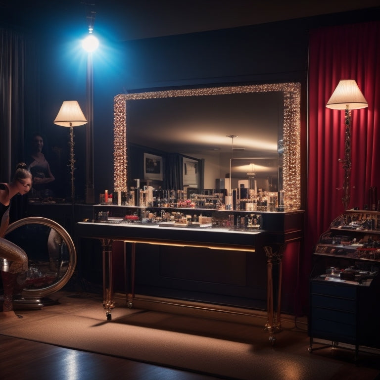
POLYGON ((0 334, 0 379, 215 380, 226 378, 76 351, 0 334))

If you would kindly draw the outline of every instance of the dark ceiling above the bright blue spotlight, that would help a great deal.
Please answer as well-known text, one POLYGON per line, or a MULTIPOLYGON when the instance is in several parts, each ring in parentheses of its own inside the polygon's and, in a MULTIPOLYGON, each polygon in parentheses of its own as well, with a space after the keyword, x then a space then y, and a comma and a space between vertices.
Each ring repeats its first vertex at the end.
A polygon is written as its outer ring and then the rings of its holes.
POLYGON ((115 41, 255 25, 379 6, 379 0, 0 0, 0 25, 54 33, 59 28, 95 32, 115 41), (95 12, 95 13, 94 13, 95 12))

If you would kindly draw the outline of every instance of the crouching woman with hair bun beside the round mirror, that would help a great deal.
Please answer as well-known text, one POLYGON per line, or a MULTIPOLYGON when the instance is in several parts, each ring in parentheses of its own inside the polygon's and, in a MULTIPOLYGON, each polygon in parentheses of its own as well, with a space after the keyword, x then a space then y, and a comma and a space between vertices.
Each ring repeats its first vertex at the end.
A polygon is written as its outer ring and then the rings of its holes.
MULTIPOLYGON (((13 311, 13 291, 23 284, 28 272, 28 257, 17 245, 4 239, 9 225, 11 199, 17 193, 26 194, 32 188, 32 174, 26 164, 19 163, 13 180, 0 183, 0 272, 4 290, 1 317, 19 317, 13 311)), ((0 309, 1 310, 1 309, 0 309)))

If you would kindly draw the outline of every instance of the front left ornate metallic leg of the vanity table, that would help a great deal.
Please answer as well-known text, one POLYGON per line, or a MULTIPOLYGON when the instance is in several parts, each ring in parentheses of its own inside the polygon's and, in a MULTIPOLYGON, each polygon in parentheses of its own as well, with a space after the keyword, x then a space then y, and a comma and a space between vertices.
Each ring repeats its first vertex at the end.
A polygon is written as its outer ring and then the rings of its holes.
POLYGON ((103 250, 103 308, 107 320, 111 320, 111 310, 115 307, 113 301, 113 274, 112 274, 112 243, 113 239, 101 238, 103 250))

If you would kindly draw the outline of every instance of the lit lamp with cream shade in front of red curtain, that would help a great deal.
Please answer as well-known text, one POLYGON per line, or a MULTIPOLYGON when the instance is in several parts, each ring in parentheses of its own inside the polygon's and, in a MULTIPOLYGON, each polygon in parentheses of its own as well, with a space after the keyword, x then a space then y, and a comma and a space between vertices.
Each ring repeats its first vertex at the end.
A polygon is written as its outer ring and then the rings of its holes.
POLYGON ((356 81, 351 79, 341 80, 332 93, 326 107, 339 110, 344 109, 345 111, 344 159, 339 159, 339 161, 342 162, 344 169, 342 202, 344 210, 347 210, 351 193, 351 110, 366 108, 368 107, 368 102, 360 91, 356 81))

